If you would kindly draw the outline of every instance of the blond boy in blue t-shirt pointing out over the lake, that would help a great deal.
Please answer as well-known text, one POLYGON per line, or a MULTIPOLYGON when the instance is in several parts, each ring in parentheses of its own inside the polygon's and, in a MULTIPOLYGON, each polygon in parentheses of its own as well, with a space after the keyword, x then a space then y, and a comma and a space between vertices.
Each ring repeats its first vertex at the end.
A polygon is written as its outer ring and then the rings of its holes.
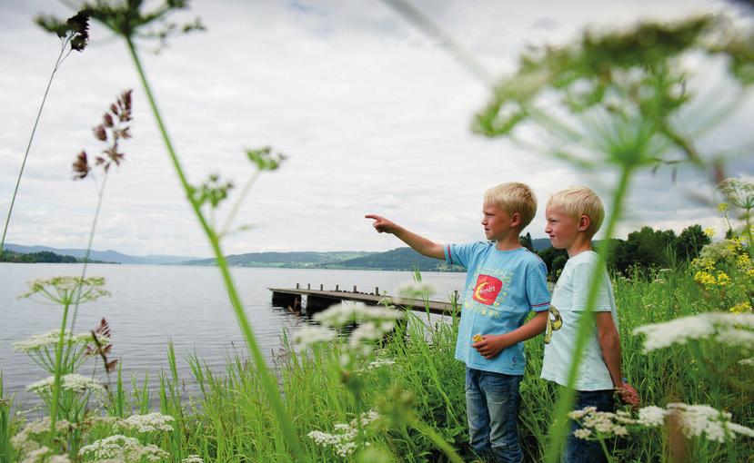
POLYGON ((471 447, 491 461, 523 459, 518 438, 523 341, 545 330, 550 300, 545 263, 518 241, 536 212, 537 200, 527 185, 490 188, 482 207, 488 241, 461 245, 438 244, 378 215, 366 216, 374 219, 377 232, 392 233, 427 257, 467 268, 456 359, 467 366, 471 447), (531 310, 537 313, 525 322, 531 310))

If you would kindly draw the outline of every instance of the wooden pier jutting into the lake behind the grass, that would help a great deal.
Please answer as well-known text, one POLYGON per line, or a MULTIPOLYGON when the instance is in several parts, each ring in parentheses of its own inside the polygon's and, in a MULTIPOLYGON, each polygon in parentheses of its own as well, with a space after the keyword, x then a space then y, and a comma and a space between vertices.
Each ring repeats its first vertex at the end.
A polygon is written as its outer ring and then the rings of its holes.
MULTIPOLYGON (((363 302, 368 305, 377 305, 377 302, 389 296, 381 296, 379 288, 375 292, 359 292, 354 286, 354 291, 341 291, 339 286, 335 290, 325 290, 324 285, 319 285, 318 290, 312 290, 311 284, 303 289, 300 285, 296 288, 267 288, 272 291, 272 305, 275 307, 284 307, 293 311, 305 310, 307 315, 311 316, 317 311, 325 310, 331 305, 337 304, 342 300, 354 302, 363 302), (302 304, 302 298, 306 296, 306 303, 302 304)), ((450 302, 440 302, 438 300, 420 300, 407 298, 390 298, 392 304, 398 307, 410 308, 411 310, 425 311, 425 304, 428 304, 429 311, 438 315, 452 315, 455 311, 453 304, 450 302)))

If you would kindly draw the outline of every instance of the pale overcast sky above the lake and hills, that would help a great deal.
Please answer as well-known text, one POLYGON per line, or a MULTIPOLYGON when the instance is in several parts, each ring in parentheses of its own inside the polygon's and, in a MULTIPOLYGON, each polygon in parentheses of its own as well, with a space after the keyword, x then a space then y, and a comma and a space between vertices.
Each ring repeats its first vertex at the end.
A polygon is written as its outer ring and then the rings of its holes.
MULTIPOLYGON (((585 27, 612 30, 641 19, 732 11, 729 4, 696 0, 413 5, 500 77, 515 71, 529 45, 568 43, 585 27)), ((40 13, 65 18, 75 12, 52 1, 0 0, 2 221, 60 52, 57 37, 33 23, 40 13)), ((608 202, 615 186, 616 176, 607 169, 583 172, 547 153, 472 133, 472 117, 491 95, 488 84, 386 3, 195 0, 172 19, 196 16, 205 32, 172 36, 159 53, 153 41, 141 42, 140 50, 189 181, 217 173, 237 185, 236 195, 216 212, 217 223, 254 172, 246 149, 269 145, 287 156, 278 171, 254 184, 235 222, 250 228, 226 236, 226 254, 387 251, 402 245, 378 235, 364 219, 367 213, 439 242, 483 240, 482 198, 501 182, 526 182, 536 192, 538 214, 525 232, 541 238, 550 194, 584 184, 608 202)), ((69 56, 55 74, 6 241, 85 248, 96 188, 88 179, 74 182, 71 163, 82 149, 102 149, 92 127, 130 88, 134 136, 122 143, 125 163, 109 175, 94 249, 210 255, 126 45, 101 25, 92 25, 90 35, 84 52, 69 56)), ((689 65, 701 74, 699 94, 725 97, 729 83, 714 64, 689 65)), ((703 104, 695 111, 703 112, 703 104)), ((752 119, 749 94, 729 124, 699 148, 712 152, 751 142, 745 121, 752 119)), ((752 156, 730 163, 728 173, 750 179, 752 156)), ((639 172, 618 236, 644 225, 680 232, 693 223, 722 232, 719 199, 703 172, 683 167, 675 179, 667 168, 639 172)))

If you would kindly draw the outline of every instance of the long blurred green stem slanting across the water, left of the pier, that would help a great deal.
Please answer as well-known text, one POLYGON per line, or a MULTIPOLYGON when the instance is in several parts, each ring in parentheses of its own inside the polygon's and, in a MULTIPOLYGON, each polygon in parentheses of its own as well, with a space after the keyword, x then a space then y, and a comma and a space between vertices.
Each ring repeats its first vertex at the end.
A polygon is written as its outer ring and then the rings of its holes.
POLYGON ((146 74, 144 73, 144 69, 142 68, 141 61, 138 57, 138 54, 136 53, 136 46, 134 45, 130 37, 126 37, 126 44, 128 45, 128 52, 131 54, 131 57, 134 60, 134 64, 136 65, 136 71, 138 72, 139 79, 144 86, 146 98, 149 101, 152 113, 155 115, 157 127, 159 128, 163 142, 166 145, 166 150, 168 155, 170 156, 170 160, 172 161, 173 166, 176 169, 178 179, 180 180, 181 185, 186 192, 188 202, 190 202, 191 207, 196 214, 196 219, 199 221, 202 230, 206 233, 206 236, 209 239, 209 243, 212 246, 212 250, 215 252, 217 267, 219 268, 220 274, 222 275, 223 281, 225 282, 226 291, 228 293, 228 297, 230 298, 230 303, 233 306, 233 310, 236 312, 236 320, 238 321, 238 325, 240 326, 241 331, 244 335, 246 345, 248 346, 252 358, 254 359, 256 369, 259 371, 259 376, 261 377, 263 385, 265 387, 267 400, 269 400, 270 405, 275 410, 278 423, 287 439, 287 444, 290 447, 293 458, 298 461, 308 461, 309 458, 307 458, 307 456, 304 454, 298 443, 297 433, 293 428, 293 422, 288 416, 287 410, 283 406, 283 402, 280 399, 276 379, 270 374, 270 371, 267 368, 265 359, 262 356, 262 351, 259 350, 259 346, 256 343, 254 333, 252 332, 248 319, 246 318, 246 313, 244 312, 243 305, 241 304, 241 299, 238 297, 236 291, 236 285, 233 283, 233 279, 230 276, 230 271, 227 268, 225 256, 223 256, 222 250, 220 249, 219 238, 212 227, 210 227, 209 223, 206 222, 206 218, 201 212, 199 203, 196 202, 191 195, 191 185, 186 180, 186 174, 181 167, 176 151, 173 149, 173 143, 171 143, 170 137, 167 135, 165 124, 163 123, 160 112, 157 109, 155 98, 146 80, 146 74))

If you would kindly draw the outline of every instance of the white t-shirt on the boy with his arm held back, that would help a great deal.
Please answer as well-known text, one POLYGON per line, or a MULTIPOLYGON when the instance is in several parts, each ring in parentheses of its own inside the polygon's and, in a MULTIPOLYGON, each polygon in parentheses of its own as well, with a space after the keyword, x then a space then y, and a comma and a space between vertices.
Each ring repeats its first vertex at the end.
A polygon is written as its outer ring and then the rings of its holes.
MULTIPOLYGON (((560 273, 560 278, 552 291, 549 307, 548 329, 545 332, 545 358, 542 361, 542 378, 566 386, 568 370, 571 366, 576 345, 578 319, 587 309, 589 281, 598 263, 594 251, 584 251, 568 259, 560 273)), ((618 327, 615 297, 607 271, 602 271, 595 311, 609 311, 618 327)), ((587 349, 578 366, 578 379, 574 389, 602 390, 613 389, 608 366, 602 356, 597 337, 596 323, 592 323, 592 333, 587 341, 587 349)))

